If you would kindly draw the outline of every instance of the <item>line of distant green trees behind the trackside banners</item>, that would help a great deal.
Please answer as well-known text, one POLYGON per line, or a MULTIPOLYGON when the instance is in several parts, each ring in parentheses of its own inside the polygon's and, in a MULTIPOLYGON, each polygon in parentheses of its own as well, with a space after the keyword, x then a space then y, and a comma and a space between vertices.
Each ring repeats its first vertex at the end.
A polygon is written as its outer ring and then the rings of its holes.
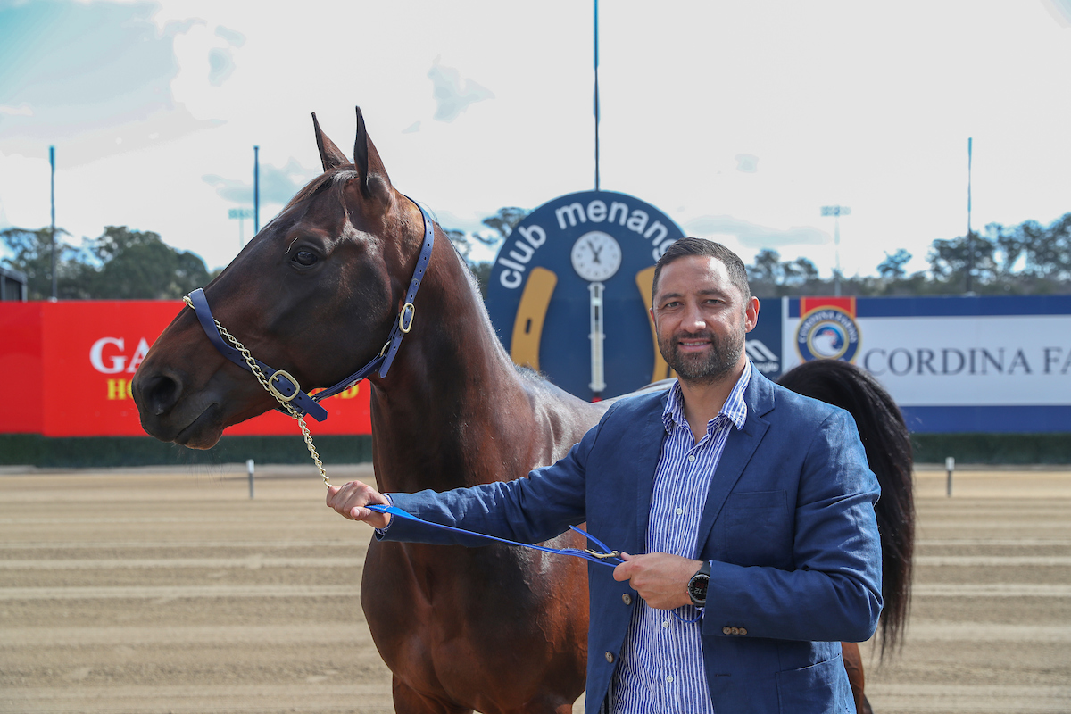
MULTIPOLYGON (((483 219, 486 229, 446 229, 468 262, 481 290, 492 263, 472 257, 480 245, 500 246, 529 211, 507 207, 483 219)), ((202 287, 212 274, 197 255, 164 243, 159 233, 108 226, 100 238, 75 247, 57 230, 56 283, 61 300, 168 300, 202 287)), ((50 229, 7 228, 0 240, 9 258, 2 263, 27 275, 30 300, 51 295, 50 229)), ((876 275, 821 277, 809 258, 783 260, 776 250, 760 250, 748 265, 752 292, 759 298, 844 295, 1047 294, 1071 292, 1071 213, 1044 226, 1027 221, 1006 227, 990 224, 981 233, 935 240, 926 254, 930 269, 907 274, 912 258, 900 248, 886 253, 876 275)))

